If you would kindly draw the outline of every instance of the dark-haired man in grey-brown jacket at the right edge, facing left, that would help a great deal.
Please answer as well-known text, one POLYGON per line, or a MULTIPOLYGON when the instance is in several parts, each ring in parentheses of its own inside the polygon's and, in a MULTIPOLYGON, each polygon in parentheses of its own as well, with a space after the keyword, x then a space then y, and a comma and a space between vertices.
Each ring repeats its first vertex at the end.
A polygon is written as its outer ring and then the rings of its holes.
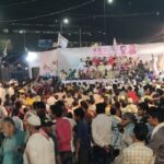
POLYGON ((149 112, 149 122, 154 127, 149 148, 155 154, 155 164, 164 163, 164 108, 149 112))

